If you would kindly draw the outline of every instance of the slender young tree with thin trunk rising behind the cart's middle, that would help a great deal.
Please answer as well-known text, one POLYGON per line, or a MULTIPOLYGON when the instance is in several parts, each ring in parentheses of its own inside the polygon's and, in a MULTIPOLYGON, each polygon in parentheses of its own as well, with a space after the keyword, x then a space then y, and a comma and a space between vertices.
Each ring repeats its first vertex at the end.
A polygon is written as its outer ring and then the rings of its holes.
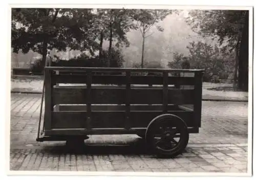
MULTIPOLYGON (((153 34, 147 34, 148 31, 170 13, 170 10, 133 10, 133 19, 137 22, 137 27, 142 36, 141 68, 144 66, 145 39, 153 34)), ((162 32, 163 28, 157 25, 157 30, 162 32)))

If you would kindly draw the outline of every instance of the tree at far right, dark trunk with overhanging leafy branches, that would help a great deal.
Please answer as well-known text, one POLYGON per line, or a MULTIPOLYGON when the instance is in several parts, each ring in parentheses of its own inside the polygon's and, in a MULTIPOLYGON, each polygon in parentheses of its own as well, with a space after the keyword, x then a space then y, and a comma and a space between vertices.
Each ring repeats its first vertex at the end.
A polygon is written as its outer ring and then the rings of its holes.
POLYGON ((248 91, 248 11, 245 10, 193 10, 189 12, 187 23, 202 36, 218 38, 234 57, 234 82, 248 91))

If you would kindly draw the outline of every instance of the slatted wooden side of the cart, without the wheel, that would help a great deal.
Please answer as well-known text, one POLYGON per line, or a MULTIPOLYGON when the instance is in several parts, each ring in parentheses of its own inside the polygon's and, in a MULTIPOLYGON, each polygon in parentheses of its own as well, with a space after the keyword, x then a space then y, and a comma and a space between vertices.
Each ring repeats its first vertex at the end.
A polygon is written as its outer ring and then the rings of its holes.
POLYGON ((194 77, 169 76, 172 70, 166 69, 140 69, 162 73, 158 76, 135 76, 132 71, 139 70, 46 67, 45 134, 133 134, 163 113, 181 117, 188 127, 200 127, 202 71, 189 71, 195 72, 194 77), (55 74, 56 70, 60 73, 55 74), (61 70, 72 74, 61 74, 61 70), (93 74, 100 70, 124 75, 93 74), (86 85, 55 86, 61 83, 86 85), (175 89, 177 84, 194 88, 175 89))

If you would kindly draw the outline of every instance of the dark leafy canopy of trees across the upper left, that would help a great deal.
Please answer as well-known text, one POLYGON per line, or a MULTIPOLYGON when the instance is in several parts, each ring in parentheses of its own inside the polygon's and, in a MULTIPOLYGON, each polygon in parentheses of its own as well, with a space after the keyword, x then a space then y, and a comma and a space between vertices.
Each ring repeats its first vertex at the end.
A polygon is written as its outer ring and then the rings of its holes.
MULTIPOLYGON (((137 30, 135 20, 144 27, 152 26, 163 19, 163 11, 131 9, 12 9, 12 47, 13 52, 22 49, 23 53, 33 50, 46 60, 47 50, 53 48, 66 51, 88 50, 92 56, 99 50, 100 58, 103 40, 109 40, 109 56, 112 41, 117 48, 129 46, 126 33, 137 30), (139 12, 139 14, 138 14, 139 12), (156 16, 155 16, 156 15, 156 16)), ((147 27, 149 28, 149 27, 147 27)), ((159 28, 160 31, 161 28, 159 28)), ((111 62, 107 62, 108 66, 111 62)))

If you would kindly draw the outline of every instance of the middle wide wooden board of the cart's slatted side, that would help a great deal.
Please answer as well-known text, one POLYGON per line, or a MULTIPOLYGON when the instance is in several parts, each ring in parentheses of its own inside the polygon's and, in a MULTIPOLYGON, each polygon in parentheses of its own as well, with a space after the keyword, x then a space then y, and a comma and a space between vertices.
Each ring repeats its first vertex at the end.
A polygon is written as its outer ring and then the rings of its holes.
MULTIPOLYGON (((124 88, 92 88, 92 104, 126 104, 124 88)), ((54 105, 87 104, 86 88, 54 88, 54 105)), ((163 90, 160 88, 131 89, 131 104, 163 104, 163 90), (149 98, 150 97, 150 98, 149 98)), ((168 104, 194 104, 194 90, 168 89, 168 104)))

